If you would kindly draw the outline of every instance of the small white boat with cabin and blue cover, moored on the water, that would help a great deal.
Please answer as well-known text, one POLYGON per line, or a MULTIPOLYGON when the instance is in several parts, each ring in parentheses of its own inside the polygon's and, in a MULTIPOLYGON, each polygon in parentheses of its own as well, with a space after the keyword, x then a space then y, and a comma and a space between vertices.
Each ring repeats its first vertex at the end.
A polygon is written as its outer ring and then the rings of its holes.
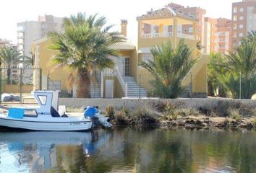
POLYGON ((39 107, 12 107, 0 114, 0 126, 25 130, 77 131, 90 130, 90 117, 70 114, 60 116, 58 112, 59 91, 35 91, 39 107))

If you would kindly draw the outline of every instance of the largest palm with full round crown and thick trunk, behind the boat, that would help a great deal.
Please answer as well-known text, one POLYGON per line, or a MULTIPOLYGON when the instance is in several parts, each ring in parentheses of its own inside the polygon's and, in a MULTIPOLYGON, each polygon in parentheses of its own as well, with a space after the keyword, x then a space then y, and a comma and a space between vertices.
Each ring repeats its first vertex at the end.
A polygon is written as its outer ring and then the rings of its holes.
POLYGON ((109 48, 124 40, 119 32, 109 32, 113 25, 106 26, 106 18, 97 14, 86 17, 78 13, 64 19, 64 32, 51 32, 51 49, 59 50, 51 63, 58 67, 77 70, 77 97, 90 97, 90 74, 93 70, 114 68, 108 56, 118 56, 118 51, 109 48))

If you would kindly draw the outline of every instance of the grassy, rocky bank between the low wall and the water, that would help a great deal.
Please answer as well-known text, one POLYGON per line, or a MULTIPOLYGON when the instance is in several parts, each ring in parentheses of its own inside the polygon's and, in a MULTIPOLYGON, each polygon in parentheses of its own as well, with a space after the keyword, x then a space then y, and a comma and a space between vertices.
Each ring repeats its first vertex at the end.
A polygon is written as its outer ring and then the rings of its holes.
POLYGON ((239 102, 220 102, 211 108, 188 108, 182 102, 140 104, 130 109, 108 105, 101 111, 114 125, 138 128, 256 128, 256 108, 239 102))

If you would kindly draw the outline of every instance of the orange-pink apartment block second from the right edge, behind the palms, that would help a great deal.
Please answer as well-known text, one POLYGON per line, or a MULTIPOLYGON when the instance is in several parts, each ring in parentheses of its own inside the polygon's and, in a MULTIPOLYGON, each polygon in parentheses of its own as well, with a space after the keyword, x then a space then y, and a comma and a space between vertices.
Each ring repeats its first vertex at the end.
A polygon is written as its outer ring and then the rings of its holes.
POLYGON ((216 19, 216 52, 229 53, 231 38, 231 19, 216 19))

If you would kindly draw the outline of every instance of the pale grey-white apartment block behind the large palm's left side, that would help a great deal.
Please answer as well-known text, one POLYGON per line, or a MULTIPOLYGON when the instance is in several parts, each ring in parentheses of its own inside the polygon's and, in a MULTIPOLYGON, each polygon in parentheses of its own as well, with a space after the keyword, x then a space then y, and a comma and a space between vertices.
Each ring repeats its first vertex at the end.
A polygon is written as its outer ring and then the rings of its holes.
POLYGON ((17 45, 20 52, 25 56, 31 56, 33 40, 45 37, 48 32, 61 32, 63 18, 45 15, 38 17, 38 21, 26 21, 17 23, 17 45))

